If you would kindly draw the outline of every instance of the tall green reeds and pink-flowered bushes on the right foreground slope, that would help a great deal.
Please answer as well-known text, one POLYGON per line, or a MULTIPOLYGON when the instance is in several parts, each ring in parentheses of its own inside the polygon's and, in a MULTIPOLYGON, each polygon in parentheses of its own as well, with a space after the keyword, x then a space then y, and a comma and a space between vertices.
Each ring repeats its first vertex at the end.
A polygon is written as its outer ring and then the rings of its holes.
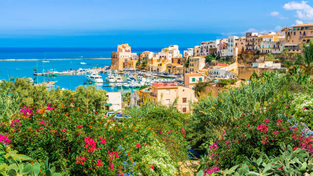
POLYGON ((189 134, 205 153, 199 174, 225 173, 219 170, 247 164, 246 157, 278 156, 282 143, 312 155, 312 86, 292 76, 254 75, 241 89, 194 104, 189 134))

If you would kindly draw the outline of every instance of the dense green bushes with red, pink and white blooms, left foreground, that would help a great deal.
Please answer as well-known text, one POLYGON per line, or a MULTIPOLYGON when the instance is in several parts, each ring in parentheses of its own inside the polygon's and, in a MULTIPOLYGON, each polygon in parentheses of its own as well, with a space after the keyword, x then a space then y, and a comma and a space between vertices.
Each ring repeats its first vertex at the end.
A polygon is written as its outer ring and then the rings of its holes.
MULTIPOLYGON (((177 163, 187 159, 188 143, 185 118, 176 108, 160 104, 130 108, 132 118, 119 123, 103 118, 93 101, 89 109, 93 113, 86 114, 81 90, 60 92, 55 101, 44 100, 40 106, 31 102, 24 106, 17 97, 20 110, 1 119, 0 142, 39 163, 48 156, 62 175, 174 175, 180 171, 177 163)), ((29 91, 31 97, 33 91, 29 91)))

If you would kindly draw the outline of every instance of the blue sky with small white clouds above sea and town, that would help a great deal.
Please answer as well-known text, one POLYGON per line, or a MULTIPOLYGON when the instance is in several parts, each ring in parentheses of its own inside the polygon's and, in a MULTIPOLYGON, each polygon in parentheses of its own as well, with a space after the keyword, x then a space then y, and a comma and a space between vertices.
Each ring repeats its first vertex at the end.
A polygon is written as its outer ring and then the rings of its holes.
POLYGON ((313 1, 2 0, 0 47, 192 47, 309 23, 313 1))

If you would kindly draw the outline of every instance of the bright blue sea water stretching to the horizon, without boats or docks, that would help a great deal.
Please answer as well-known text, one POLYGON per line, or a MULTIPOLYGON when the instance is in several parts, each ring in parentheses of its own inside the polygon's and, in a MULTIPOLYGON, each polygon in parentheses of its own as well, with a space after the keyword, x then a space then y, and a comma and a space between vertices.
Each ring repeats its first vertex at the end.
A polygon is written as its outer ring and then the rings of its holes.
MULTIPOLYGON (((131 48, 131 52, 137 54, 144 51, 160 52, 162 48, 131 48)), ((183 53, 186 48, 180 48, 183 53)), ((34 76, 34 69, 42 72, 54 69, 58 72, 91 69, 94 67, 110 66, 110 59, 88 60, 87 58, 110 58, 111 52, 116 48, 0 48, 0 59, 82 59, 82 60, 41 60, 27 61, 0 61, 0 79, 10 80, 10 78, 32 78, 35 82, 57 81, 53 88, 76 90, 76 87, 84 85, 85 75, 59 75, 57 77, 34 76), (85 62, 86 64, 80 64, 85 62)), ((105 80, 106 74, 100 74, 105 80)), ((126 79, 126 78, 124 78, 126 79)), ((93 83, 94 84, 94 83, 93 83)), ((137 89, 123 89, 117 87, 103 87, 102 84, 94 84, 97 90, 106 90, 107 92, 133 92, 137 89)))

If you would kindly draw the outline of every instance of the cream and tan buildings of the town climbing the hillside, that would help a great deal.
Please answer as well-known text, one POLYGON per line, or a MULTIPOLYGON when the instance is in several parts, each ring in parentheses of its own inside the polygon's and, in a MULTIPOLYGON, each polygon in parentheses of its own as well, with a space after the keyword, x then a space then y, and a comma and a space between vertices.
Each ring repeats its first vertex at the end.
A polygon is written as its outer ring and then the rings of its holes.
MULTIPOLYGON (((162 73, 181 77, 177 82, 155 83, 131 93, 130 100, 120 108, 142 106, 147 102, 169 105, 177 101, 181 113, 190 113, 190 102, 197 101, 195 86, 210 82, 206 93, 217 96, 218 91, 248 83, 254 72, 285 71, 284 61, 295 59, 313 38, 313 24, 284 27, 280 31, 259 34, 248 32, 245 36, 202 41, 200 46, 180 53, 177 45, 170 45, 158 53, 145 51, 132 53, 125 43, 112 52, 111 70, 133 70, 162 73)), ((115 97, 113 97, 115 100, 115 97)))

